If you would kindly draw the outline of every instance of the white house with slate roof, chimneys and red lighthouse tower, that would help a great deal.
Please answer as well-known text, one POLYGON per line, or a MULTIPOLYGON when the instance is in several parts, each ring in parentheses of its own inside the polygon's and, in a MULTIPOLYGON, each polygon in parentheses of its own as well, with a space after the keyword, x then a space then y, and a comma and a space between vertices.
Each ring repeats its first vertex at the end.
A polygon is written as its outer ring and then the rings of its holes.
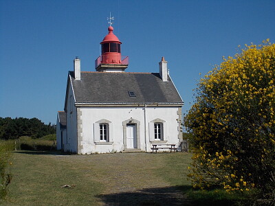
POLYGON ((69 71, 64 112, 58 112, 57 148, 77 154, 145 151, 181 142, 181 100, 167 62, 159 73, 128 73, 128 57, 109 27, 96 71, 69 71))

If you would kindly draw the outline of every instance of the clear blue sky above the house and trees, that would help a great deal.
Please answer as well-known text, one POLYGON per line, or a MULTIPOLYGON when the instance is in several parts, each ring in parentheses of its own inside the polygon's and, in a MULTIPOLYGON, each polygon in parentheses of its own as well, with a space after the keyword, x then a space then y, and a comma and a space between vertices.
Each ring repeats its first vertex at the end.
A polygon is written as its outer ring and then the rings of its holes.
POLYGON ((275 1, 0 0, 0 117, 56 122, 67 71, 95 71, 109 12, 128 72, 168 61, 186 112, 200 79, 238 45, 275 41, 275 1))

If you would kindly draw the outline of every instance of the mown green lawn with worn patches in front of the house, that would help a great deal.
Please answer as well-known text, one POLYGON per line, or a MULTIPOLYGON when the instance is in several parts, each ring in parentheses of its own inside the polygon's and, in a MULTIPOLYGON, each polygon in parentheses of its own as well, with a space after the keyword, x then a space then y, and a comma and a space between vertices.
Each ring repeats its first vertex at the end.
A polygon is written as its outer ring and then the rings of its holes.
POLYGON ((192 190, 186 179, 190 157, 181 152, 63 155, 17 151, 7 200, 0 205, 238 203, 237 196, 192 190))

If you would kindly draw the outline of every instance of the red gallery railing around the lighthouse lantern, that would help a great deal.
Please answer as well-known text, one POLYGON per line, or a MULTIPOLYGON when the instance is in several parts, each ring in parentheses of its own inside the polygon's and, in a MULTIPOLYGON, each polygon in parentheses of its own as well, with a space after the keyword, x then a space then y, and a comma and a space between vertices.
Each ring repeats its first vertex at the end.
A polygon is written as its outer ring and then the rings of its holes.
POLYGON ((95 60, 95 67, 99 65, 129 65, 129 56, 109 56, 109 55, 100 55, 95 60))

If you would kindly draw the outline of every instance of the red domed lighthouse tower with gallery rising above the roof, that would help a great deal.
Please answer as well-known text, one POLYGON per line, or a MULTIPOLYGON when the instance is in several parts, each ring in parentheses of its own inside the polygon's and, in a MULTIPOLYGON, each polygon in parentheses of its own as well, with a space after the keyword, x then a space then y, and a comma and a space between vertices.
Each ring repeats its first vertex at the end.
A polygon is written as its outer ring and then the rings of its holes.
POLYGON ((96 71, 122 72, 128 67, 128 56, 121 56, 120 45, 122 44, 115 34, 113 27, 108 27, 107 34, 101 45, 101 55, 96 59, 96 71))

